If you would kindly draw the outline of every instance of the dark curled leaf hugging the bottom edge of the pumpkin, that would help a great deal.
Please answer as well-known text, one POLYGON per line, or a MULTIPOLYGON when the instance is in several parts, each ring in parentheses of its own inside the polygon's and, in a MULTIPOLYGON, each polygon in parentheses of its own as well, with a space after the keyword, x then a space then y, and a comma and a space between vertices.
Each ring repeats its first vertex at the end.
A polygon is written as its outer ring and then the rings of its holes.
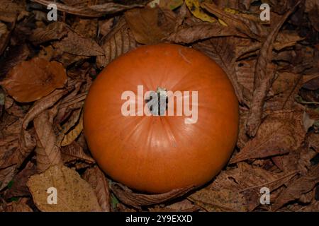
POLYGON ((187 192, 194 189, 193 186, 186 187, 184 189, 174 189, 164 194, 138 194, 134 193, 128 187, 112 183, 111 190, 123 203, 128 206, 133 206, 139 208, 140 206, 150 206, 157 203, 163 203, 164 201, 169 201, 172 198, 177 198, 183 196, 187 192))

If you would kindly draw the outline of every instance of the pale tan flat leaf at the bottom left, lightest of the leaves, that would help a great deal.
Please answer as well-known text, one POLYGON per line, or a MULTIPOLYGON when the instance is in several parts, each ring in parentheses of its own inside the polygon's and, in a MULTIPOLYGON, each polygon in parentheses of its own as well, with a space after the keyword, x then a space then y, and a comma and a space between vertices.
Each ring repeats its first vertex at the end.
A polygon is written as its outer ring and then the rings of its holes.
MULTIPOLYGON (((96 194, 91 186, 74 170, 55 165, 42 174, 28 180, 28 188, 35 206, 43 212, 86 212, 100 211, 96 194), (57 189, 57 204, 47 203, 48 189, 57 189)), ((52 191, 50 191, 52 194, 52 191)))

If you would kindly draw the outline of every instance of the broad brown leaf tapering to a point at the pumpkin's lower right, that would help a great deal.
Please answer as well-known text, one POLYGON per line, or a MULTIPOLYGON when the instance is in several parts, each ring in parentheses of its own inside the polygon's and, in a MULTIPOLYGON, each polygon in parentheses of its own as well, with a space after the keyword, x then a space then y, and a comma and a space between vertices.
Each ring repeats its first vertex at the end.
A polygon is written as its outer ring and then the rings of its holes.
POLYGON ((303 112, 276 111, 267 116, 256 136, 230 162, 288 153, 298 149, 305 136, 303 112))

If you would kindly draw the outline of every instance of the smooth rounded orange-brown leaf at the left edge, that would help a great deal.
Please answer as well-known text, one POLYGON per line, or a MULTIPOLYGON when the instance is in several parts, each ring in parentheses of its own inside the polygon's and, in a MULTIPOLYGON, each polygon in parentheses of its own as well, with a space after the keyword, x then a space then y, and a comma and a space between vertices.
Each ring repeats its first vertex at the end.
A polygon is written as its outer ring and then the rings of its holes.
POLYGON ((15 66, 0 84, 14 100, 32 102, 62 88, 67 73, 56 61, 33 58, 15 66))

